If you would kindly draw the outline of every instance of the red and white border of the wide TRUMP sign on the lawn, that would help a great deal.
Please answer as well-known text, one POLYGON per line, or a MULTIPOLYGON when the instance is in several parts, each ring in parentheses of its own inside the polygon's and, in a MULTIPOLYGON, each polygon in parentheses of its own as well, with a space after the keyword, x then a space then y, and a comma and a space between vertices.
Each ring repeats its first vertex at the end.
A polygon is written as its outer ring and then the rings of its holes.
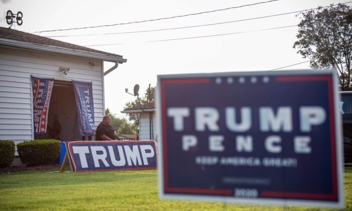
POLYGON ((157 159, 158 153, 154 141, 68 141, 68 155, 70 156, 74 172, 90 172, 90 171, 129 171, 129 170, 146 170, 146 169, 156 169, 156 167, 136 167, 136 168, 123 168, 123 169, 96 169, 96 170, 76 170, 76 165, 74 162, 74 157, 72 156, 72 146, 71 143, 81 143, 81 144, 101 144, 101 143, 152 143, 154 146, 154 152, 157 159))

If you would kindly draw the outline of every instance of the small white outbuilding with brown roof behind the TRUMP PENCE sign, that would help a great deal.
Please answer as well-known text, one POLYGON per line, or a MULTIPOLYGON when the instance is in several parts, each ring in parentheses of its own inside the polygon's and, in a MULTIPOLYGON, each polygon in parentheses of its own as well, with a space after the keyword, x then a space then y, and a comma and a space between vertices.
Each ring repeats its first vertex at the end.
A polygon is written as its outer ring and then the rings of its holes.
POLYGON ((139 114, 139 140, 155 140, 157 126, 154 103, 125 109, 121 113, 139 114))

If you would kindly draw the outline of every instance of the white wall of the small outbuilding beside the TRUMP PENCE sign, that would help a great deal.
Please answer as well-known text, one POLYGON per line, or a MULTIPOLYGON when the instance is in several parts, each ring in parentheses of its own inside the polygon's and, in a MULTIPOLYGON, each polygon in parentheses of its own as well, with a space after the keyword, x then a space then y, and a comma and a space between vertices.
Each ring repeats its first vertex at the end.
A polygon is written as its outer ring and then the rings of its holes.
MULTIPOLYGON (((152 113, 152 114, 153 114, 152 140, 155 140, 155 135, 157 133, 156 117, 155 117, 155 113, 152 113)), ((149 113, 141 113, 139 115, 139 139, 150 140, 149 113)))

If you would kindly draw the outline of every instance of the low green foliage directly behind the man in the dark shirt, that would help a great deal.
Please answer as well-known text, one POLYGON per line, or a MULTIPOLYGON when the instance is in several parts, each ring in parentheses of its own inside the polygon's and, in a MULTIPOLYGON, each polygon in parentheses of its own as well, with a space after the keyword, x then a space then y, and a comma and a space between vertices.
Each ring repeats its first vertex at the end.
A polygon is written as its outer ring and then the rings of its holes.
POLYGON ((111 113, 109 108, 105 110, 105 115, 110 116, 110 125, 117 132, 117 134, 138 134, 138 128, 129 123, 126 119, 117 118, 115 114, 111 113))

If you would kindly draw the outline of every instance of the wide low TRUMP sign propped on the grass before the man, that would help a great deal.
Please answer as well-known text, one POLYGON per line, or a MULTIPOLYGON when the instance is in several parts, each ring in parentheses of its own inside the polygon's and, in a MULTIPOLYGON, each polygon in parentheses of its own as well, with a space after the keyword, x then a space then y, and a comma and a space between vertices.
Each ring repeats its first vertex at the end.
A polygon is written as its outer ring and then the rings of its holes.
POLYGON ((156 169, 154 141, 69 141, 72 171, 156 169))

